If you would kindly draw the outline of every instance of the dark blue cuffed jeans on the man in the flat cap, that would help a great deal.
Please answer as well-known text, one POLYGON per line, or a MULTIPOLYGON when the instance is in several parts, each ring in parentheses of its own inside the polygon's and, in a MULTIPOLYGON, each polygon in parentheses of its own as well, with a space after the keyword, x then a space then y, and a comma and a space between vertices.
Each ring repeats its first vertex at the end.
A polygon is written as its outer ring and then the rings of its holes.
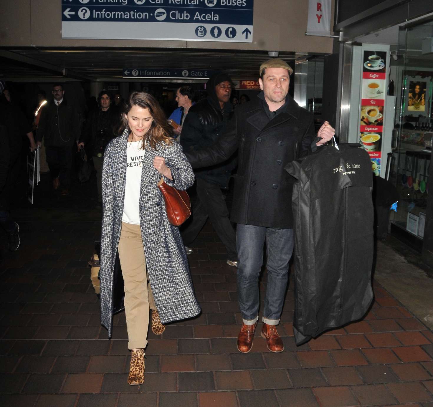
POLYGON ((293 252, 293 229, 238 224, 236 242, 237 287, 243 323, 253 325, 259 319, 259 274, 266 242, 268 282, 262 320, 268 325, 278 325, 293 252))

